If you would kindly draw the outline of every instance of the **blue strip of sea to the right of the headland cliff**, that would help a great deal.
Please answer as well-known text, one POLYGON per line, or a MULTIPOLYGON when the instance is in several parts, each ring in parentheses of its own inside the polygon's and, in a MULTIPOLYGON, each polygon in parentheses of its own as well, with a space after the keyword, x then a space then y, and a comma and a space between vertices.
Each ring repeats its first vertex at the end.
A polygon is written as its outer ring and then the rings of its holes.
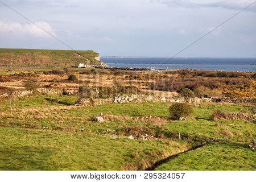
POLYGON ((101 57, 109 67, 151 69, 203 69, 206 71, 256 71, 255 58, 101 57))

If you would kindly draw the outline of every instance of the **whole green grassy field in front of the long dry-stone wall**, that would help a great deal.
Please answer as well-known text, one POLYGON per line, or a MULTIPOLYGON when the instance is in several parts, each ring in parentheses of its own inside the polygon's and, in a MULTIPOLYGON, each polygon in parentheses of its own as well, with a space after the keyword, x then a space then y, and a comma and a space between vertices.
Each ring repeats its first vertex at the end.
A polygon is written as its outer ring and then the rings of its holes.
POLYGON ((239 120, 214 122, 210 119, 214 109, 254 113, 254 105, 201 104, 193 107, 194 119, 167 119, 167 122, 155 125, 147 119, 133 118, 143 115, 168 117, 170 103, 75 107, 76 100, 76 96, 19 98, 13 106, 13 115, 10 102, 1 102, 0 169, 146 169, 160 159, 210 140, 215 142, 180 154, 156 169, 250 170, 255 166, 255 153, 247 148, 256 136, 255 123, 239 120), (125 119, 93 122, 92 118, 100 112, 125 119), (128 139, 124 130, 127 127, 146 128, 160 140, 128 139), (179 133, 181 140, 175 137, 179 133), (204 161, 200 163, 199 159, 204 161))

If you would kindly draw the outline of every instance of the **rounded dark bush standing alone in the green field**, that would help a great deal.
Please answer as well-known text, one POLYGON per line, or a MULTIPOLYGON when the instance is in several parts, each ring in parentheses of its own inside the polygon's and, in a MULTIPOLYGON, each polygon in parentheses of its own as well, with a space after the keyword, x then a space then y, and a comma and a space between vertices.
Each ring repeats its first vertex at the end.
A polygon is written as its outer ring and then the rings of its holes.
POLYGON ((170 118, 177 120, 181 117, 191 117, 193 114, 193 108, 187 103, 175 103, 169 108, 170 118))

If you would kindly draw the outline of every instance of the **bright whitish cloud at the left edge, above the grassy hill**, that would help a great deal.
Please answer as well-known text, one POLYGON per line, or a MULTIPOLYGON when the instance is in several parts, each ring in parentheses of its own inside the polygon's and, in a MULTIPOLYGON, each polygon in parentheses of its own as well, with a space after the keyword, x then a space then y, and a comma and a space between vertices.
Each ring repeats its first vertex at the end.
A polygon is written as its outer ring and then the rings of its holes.
MULTIPOLYGON (((35 22, 39 27, 56 36, 55 31, 46 22, 35 22)), ((31 35, 40 38, 47 38, 49 35, 33 23, 3 22, 0 20, 0 32, 17 35, 31 35)))

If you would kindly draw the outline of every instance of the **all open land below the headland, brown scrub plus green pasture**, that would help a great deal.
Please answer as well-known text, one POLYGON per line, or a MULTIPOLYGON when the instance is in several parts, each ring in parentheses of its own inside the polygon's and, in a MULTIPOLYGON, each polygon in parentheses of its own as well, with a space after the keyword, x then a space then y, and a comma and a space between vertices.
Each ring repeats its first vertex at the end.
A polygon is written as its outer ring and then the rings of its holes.
POLYGON ((248 147, 256 137, 255 119, 232 115, 255 115, 255 103, 192 103, 191 115, 182 121, 171 117, 172 102, 76 105, 80 86, 117 85, 162 97, 255 98, 253 72, 0 69, 0 95, 61 90, 1 97, 0 169, 255 168, 255 150, 248 147), (94 122, 100 113, 104 122, 94 122))

